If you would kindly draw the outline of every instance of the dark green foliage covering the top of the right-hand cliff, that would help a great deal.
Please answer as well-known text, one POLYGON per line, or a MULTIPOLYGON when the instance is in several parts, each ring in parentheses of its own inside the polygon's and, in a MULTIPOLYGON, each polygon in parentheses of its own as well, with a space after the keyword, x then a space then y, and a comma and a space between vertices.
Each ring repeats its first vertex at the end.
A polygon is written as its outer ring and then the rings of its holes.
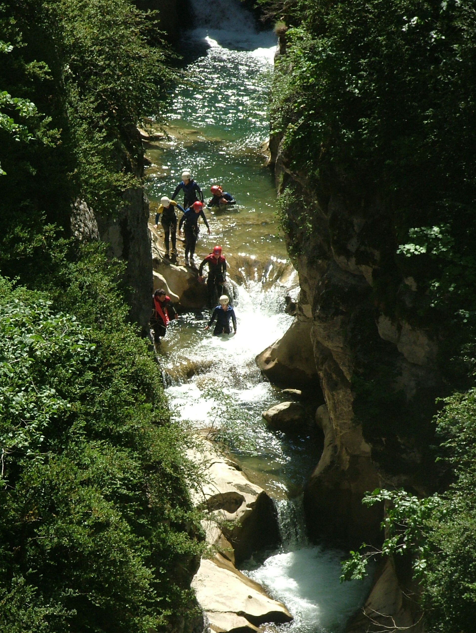
MULTIPOLYGON (((290 27, 272 91, 286 166, 326 213, 333 195, 363 218, 379 216, 384 234, 365 244, 381 251, 381 304, 411 276, 425 325, 474 320, 474 3, 291 0, 274 12, 290 27)), ((298 250, 314 199, 288 187, 303 207, 301 216, 296 204, 283 210, 298 250)))

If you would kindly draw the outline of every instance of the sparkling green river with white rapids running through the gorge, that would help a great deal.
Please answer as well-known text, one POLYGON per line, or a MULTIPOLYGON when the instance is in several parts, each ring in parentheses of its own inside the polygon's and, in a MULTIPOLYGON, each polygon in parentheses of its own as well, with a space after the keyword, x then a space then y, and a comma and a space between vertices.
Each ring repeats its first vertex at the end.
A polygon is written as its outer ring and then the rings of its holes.
POLYGON ((368 585, 339 584, 343 552, 307 541, 302 489, 319 461, 322 437, 317 430, 286 435, 267 429, 262 411, 287 398, 262 379, 254 361, 290 326, 284 297, 298 292, 278 226, 274 183, 259 153, 269 132, 276 38, 257 31, 240 0, 192 4, 196 28, 186 33, 183 47, 188 84, 171 97, 171 136, 149 145, 148 194, 152 201, 171 196, 187 168, 205 199, 212 184, 221 184, 237 200, 233 208, 207 212, 211 235, 202 230, 197 259, 214 244, 223 246, 238 282, 238 333, 204 332, 207 311, 171 323, 161 345, 166 394, 179 418, 197 429, 219 430, 248 478, 276 501, 281 548, 241 566, 295 618, 272 630, 338 633, 368 585))

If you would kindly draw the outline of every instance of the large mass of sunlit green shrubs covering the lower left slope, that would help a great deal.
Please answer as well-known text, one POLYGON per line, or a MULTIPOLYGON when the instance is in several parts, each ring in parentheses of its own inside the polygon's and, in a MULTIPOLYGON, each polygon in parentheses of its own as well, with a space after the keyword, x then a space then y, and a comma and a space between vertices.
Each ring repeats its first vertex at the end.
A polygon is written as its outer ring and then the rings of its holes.
POLYGON ((62 301, 74 308, 88 296, 82 322, 0 278, 0 619, 9 631, 145 633, 193 611, 194 470, 107 268, 101 254, 95 267, 84 257, 76 266, 62 301))

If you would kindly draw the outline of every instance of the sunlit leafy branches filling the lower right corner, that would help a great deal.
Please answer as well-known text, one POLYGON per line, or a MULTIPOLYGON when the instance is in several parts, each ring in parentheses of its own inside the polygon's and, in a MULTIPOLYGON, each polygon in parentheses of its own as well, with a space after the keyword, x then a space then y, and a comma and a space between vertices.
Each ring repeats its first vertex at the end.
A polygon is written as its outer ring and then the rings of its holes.
POLYGON ((436 422, 453 483, 444 494, 424 499, 403 490, 367 495, 366 505, 386 502, 386 539, 379 552, 365 545, 352 552, 341 579, 362 577, 375 554, 408 553, 429 630, 470 633, 476 603, 476 389, 446 398, 436 422))

